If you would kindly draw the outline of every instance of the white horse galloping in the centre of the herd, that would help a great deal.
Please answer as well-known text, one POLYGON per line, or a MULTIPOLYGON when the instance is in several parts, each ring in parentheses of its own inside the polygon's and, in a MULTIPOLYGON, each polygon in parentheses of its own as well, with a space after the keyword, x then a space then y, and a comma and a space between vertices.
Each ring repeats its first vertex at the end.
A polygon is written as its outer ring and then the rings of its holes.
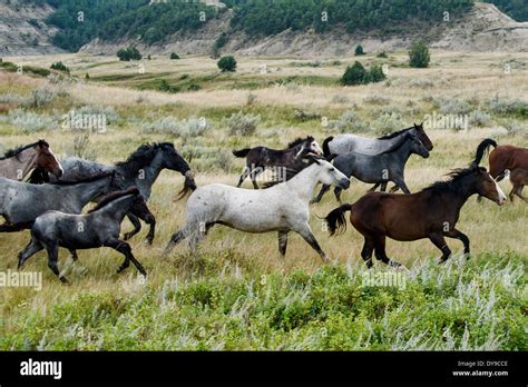
POLYGON ((170 252, 182 239, 189 238, 194 250, 207 231, 216 224, 246 232, 278 232, 278 251, 286 254, 287 232, 295 231, 319 252, 319 246, 309 225, 309 202, 317 182, 346 189, 350 180, 323 159, 313 163, 290 180, 273 187, 254 190, 213 183, 196 189, 187 201, 185 226, 173 235, 165 249, 170 252))

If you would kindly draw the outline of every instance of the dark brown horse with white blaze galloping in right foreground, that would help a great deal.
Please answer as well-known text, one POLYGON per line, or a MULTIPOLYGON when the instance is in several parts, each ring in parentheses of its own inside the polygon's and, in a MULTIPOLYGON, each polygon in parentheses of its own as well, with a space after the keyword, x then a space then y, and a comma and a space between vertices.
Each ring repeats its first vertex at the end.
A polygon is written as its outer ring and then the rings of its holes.
POLYGON ((351 211, 350 221, 364 237, 361 257, 369 268, 373 265, 373 251, 382 262, 400 266, 385 254, 387 237, 401 241, 429 238, 442 251, 440 262, 451 255, 444 237, 461 240, 463 252, 469 255, 469 238, 456 228, 460 209, 475 194, 499 206, 505 204, 506 196, 486 168, 457 169, 450 177, 417 194, 371 192, 353 205, 338 207, 325 218, 330 235, 346 230, 344 214, 351 211))

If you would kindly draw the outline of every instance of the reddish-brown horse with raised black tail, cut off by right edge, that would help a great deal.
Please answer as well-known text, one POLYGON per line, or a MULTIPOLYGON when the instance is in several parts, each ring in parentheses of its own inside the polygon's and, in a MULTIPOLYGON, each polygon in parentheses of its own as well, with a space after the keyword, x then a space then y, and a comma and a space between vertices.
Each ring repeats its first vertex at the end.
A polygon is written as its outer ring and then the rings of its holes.
POLYGON ((490 138, 485 139, 477 148, 473 163, 478 166, 483 155, 489 149, 495 149, 489 153, 489 173, 493 179, 500 181, 505 178, 506 169, 515 170, 517 168, 528 169, 528 148, 514 146, 497 146, 497 142, 490 138))

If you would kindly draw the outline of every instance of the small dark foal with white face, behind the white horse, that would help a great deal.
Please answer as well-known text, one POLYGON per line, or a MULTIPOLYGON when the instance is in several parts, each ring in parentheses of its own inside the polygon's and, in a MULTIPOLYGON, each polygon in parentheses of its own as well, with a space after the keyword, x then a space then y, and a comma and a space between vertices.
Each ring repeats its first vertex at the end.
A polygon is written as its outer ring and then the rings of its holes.
POLYGON ((258 189, 256 178, 264 172, 266 168, 285 168, 287 170, 301 170, 304 156, 323 153, 317 141, 312 136, 306 138, 297 138, 290 142, 286 149, 271 149, 266 147, 246 148, 241 150, 233 150, 236 157, 246 158, 246 168, 242 173, 236 187, 241 187, 247 177, 251 177, 253 188, 258 189))

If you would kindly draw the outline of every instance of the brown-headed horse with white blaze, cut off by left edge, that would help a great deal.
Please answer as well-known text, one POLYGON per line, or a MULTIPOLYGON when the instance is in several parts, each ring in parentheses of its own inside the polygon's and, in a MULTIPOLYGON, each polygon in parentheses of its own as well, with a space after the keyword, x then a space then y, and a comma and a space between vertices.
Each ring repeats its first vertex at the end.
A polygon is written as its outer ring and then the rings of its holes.
POLYGON ((31 169, 62 176, 62 167, 45 140, 8 150, 0 157, 0 177, 21 181, 31 169))

